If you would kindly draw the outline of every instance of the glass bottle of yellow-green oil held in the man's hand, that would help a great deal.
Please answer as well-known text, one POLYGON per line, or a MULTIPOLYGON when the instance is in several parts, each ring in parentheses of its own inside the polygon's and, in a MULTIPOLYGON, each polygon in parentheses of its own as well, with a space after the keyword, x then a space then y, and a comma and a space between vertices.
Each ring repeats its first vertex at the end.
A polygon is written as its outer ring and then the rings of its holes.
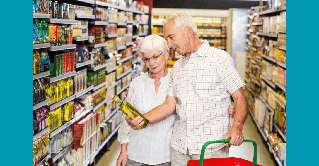
POLYGON ((143 126, 140 127, 140 129, 146 128, 149 121, 141 113, 139 113, 129 102, 122 101, 116 95, 113 97, 113 100, 120 106, 120 110, 123 114, 125 114, 126 116, 132 115, 130 120, 135 119, 137 116, 142 117, 145 123, 143 126))

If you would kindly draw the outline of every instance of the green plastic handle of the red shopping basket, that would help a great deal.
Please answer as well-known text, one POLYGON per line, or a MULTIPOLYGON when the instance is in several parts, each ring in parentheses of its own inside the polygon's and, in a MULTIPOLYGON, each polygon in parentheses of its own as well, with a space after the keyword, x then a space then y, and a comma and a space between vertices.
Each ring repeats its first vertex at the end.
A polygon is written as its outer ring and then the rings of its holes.
MULTIPOLYGON (((206 149, 206 147, 209 144, 212 144, 212 143, 226 143, 226 142, 229 142, 229 141, 230 141, 230 139, 206 142, 203 145, 202 151, 200 153, 199 166, 203 166, 205 149, 206 149)), ((253 166, 257 166, 257 144, 256 144, 256 142, 253 141, 253 140, 244 140, 243 142, 253 142, 253 144, 254 144, 254 162, 253 162, 253 166)))

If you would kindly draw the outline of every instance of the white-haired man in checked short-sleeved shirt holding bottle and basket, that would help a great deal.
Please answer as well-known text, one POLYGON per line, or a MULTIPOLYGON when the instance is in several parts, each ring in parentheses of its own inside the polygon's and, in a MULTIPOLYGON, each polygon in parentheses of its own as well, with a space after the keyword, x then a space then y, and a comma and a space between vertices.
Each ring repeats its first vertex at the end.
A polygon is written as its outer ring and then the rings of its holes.
MULTIPOLYGON (((165 119, 176 110, 171 138, 171 164, 186 165, 199 159, 205 142, 228 139, 225 144, 212 144, 205 158, 228 157, 229 145, 239 146, 244 136, 242 128, 248 112, 248 101, 242 91, 245 83, 234 67, 231 56, 197 37, 193 18, 184 12, 174 13, 163 21, 167 45, 180 55, 171 70, 170 86, 163 104, 144 114, 149 123, 165 119), (228 107, 230 95, 235 102, 236 116, 230 128, 228 107)), ((144 124, 142 118, 130 121, 133 129, 144 124)))

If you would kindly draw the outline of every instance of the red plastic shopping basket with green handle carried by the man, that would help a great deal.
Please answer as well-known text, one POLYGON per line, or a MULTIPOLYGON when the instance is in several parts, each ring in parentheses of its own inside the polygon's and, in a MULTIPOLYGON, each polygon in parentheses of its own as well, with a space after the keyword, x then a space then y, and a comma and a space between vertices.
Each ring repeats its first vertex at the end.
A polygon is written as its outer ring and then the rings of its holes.
POLYGON ((261 166, 257 164, 257 144, 255 141, 252 140, 244 140, 244 142, 253 142, 254 144, 254 162, 237 158, 237 157, 228 157, 228 158, 208 158, 204 159, 204 153, 205 149, 209 144, 212 143, 226 143, 229 142, 230 139, 226 140, 217 140, 217 141, 211 141, 211 142, 206 142, 203 145, 201 154, 200 154, 200 159, 199 160, 189 160, 187 162, 187 166, 261 166))

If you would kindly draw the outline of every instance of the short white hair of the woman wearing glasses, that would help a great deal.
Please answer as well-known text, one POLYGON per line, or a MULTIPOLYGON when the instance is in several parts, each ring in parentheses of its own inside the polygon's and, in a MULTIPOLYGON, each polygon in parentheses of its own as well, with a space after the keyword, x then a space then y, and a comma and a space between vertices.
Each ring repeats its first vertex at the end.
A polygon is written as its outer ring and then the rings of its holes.
POLYGON ((152 52, 153 50, 159 50, 161 52, 168 51, 167 41, 159 35, 149 35, 145 37, 139 47, 141 56, 143 56, 143 53, 152 52))

